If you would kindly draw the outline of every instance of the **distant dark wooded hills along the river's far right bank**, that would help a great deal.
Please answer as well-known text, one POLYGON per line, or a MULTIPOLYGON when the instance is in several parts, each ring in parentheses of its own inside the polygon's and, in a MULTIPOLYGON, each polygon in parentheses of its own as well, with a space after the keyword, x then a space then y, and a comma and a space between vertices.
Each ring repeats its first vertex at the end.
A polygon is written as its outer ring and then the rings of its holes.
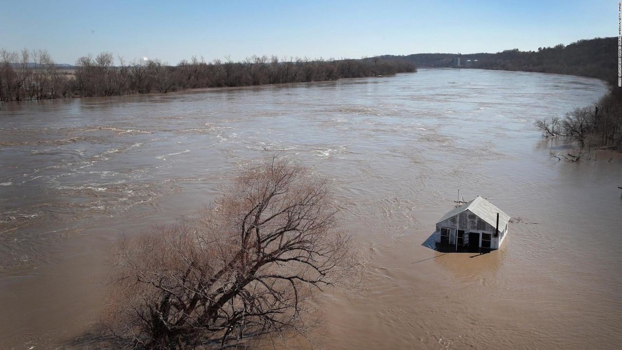
MULTIPOLYGON (((383 59, 408 60, 417 67, 452 67, 457 54, 384 55, 383 59)), ((504 50, 496 54, 462 54, 461 68, 520 70, 600 78, 617 85, 618 38, 578 40, 569 45, 539 47, 537 51, 504 50), (471 62, 467 63, 467 60, 471 62), (477 62, 473 62, 477 60, 477 62)))

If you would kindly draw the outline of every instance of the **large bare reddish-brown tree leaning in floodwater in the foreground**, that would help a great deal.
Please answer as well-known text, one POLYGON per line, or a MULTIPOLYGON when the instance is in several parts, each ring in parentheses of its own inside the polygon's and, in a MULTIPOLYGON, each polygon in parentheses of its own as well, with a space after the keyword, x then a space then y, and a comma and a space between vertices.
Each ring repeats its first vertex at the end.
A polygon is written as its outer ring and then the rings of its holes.
POLYGON ((202 219, 118 245, 111 324, 167 350, 305 333, 310 298, 355 266, 337 212, 309 169, 277 157, 248 166, 202 219))

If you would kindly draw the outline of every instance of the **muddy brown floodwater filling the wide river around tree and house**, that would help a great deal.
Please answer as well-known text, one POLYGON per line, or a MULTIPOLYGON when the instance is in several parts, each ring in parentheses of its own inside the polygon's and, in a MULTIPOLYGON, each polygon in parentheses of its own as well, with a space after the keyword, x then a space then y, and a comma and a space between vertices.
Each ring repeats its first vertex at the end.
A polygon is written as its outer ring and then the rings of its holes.
POLYGON ((533 126, 605 92, 420 69, 2 105, 0 348, 64 348, 97 320, 107 245, 210 204, 276 151, 333 179, 368 267, 360 293, 322 300, 330 348, 619 349, 622 158, 557 162, 564 145, 533 126), (458 189, 514 218, 500 250, 424 245, 458 189))

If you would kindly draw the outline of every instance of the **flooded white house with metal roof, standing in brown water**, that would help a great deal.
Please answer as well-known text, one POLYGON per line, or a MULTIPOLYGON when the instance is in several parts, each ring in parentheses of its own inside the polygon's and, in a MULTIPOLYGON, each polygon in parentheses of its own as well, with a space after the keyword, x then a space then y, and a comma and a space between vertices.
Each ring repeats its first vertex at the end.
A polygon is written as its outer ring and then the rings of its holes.
POLYGON ((437 245, 498 249, 508 234, 509 215, 480 196, 445 214, 436 224, 437 245))

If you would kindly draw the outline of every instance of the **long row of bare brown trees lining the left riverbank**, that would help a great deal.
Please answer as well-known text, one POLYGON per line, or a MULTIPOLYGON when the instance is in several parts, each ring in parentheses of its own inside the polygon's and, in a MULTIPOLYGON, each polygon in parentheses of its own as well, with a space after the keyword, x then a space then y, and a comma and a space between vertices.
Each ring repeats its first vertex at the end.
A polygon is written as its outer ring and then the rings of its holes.
POLYGON ((188 88, 243 87, 317 82, 415 72, 407 60, 309 60, 253 56, 241 62, 205 62, 197 57, 169 65, 160 60, 126 63, 103 52, 81 57, 75 66, 57 65, 44 51, 0 51, 0 101, 167 93, 188 88))

